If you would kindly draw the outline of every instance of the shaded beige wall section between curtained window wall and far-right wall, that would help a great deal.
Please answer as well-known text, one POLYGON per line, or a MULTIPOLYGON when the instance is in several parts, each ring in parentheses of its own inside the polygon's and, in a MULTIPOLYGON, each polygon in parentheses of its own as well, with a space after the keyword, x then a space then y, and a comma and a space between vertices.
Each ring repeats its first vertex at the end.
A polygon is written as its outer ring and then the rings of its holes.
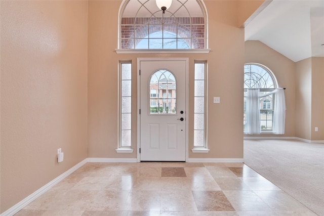
POLYGON ((311 140, 311 58, 296 62, 296 137, 311 140))

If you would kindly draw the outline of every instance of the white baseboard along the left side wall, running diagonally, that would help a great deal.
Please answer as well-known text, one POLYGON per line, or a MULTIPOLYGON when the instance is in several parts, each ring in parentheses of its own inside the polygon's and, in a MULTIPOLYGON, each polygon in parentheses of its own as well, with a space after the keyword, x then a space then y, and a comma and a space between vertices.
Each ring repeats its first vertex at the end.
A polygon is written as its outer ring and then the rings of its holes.
POLYGON ((24 198, 23 200, 18 202, 16 205, 12 206, 11 208, 9 208, 5 212, 3 212, 1 214, 1 216, 12 216, 12 215, 14 215, 15 213, 17 213, 18 211, 23 209, 25 206, 27 206, 29 203, 34 201, 36 198, 38 198, 39 196, 41 196, 42 194, 44 194, 45 192, 50 190, 54 185, 56 185, 57 183, 62 181, 64 178, 66 178, 67 176, 72 174, 72 172, 74 172, 76 169, 80 168, 81 166, 83 166, 86 163, 87 163, 87 159, 84 159, 83 161, 79 162, 78 164, 76 164, 75 166, 73 166, 69 170, 65 171, 63 174, 61 174, 60 176, 58 176, 57 178, 55 178, 51 182, 44 185, 42 188, 39 188, 38 190, 36 190, 35 192, 30 194, 26 198, 24 198))

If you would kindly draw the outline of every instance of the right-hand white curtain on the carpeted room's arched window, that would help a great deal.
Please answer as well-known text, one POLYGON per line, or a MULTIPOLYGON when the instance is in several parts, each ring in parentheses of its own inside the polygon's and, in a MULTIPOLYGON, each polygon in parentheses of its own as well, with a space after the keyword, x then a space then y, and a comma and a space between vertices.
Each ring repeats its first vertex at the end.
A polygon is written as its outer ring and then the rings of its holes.
POLYGON ((273 106, 273 134, 285 134, 286 100, 283 89, 277 89, 273 106))

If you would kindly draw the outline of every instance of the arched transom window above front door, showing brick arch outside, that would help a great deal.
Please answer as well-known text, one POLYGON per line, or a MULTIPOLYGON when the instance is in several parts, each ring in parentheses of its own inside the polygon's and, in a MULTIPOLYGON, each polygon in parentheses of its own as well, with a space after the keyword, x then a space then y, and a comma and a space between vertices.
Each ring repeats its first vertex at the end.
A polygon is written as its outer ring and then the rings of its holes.
POLYGON ((121 11, 119 49, 205 49, 200 0, 173 0, 163 13, 155 0, 129 0, 121 11))

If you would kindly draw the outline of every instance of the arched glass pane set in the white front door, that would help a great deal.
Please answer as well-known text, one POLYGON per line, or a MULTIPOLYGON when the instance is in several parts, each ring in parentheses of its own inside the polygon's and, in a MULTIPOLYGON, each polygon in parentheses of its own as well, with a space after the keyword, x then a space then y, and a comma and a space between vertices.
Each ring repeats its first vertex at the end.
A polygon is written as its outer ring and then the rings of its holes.
POLYGON ((168 70, 158 70, 150 78, 150 114, 176 113, 176 78, 168 70), (156 94, 152 94, 157 92, 156 94), (154 106, 155 105, 155 106, 154 106))

